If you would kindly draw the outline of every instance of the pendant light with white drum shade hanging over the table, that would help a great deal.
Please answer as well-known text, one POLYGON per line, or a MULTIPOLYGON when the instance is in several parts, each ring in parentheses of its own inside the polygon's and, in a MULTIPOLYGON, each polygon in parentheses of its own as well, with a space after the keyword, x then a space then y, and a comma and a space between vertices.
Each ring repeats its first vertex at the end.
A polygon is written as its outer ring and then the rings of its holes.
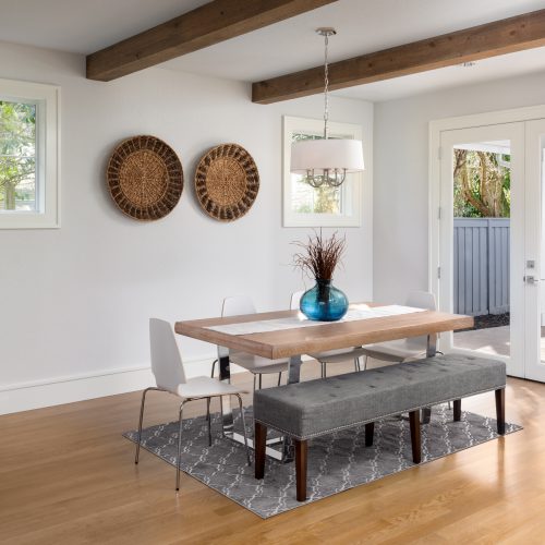
POLYGON ((317 28, 316 33, 325 39, 324 62, 324 137, 294 142, 291 145, 290 172, 302 174, 303 181, 313 187, 328 185, 338 187, 349 172, 364 169, 362 142, 349 138, 329 138, 329 36, 337 34, 335 28, 317 28))

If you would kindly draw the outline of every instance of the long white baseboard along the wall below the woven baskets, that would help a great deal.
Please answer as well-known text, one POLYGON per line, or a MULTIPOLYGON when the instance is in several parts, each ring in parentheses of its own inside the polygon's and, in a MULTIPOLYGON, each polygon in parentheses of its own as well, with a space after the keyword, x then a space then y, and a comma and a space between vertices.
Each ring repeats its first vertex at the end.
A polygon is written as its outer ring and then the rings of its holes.
MULTIPOLYGON (((187 378, 208 375, 214 356, 184 363, 187 378)), ((232 365, 231 373, 244 370, 232 365)), ((155 385, 149 366, 119 368, 0 387, 0 414, 136 391, 155 385)))

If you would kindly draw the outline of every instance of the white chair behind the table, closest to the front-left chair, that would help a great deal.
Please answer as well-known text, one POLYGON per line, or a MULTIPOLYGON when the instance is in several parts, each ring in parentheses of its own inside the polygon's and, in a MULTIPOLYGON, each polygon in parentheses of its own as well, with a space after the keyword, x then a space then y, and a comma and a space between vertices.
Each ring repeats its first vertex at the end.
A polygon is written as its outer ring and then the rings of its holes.
MULTIPOLYGON (((237 295, 223 299, 221 307, 221 316, 241 316, 244 314, 255 314, 255 305, 252 298, 247 295, 237 295)), ((218 347, 218 360, 215 360, 211 367, 211 376, 214 377, 215 365, 219 361, 221 347, 218 347)), ((262 388, 262 376, 278 373, 278 386, 282 380, 282 373, 288 371, 289 360, 269 360, 259 355, 247 354, 238 350, 230 350, 229 360, 254 375, 254 390, 256 377, 258 378, 258 387, 262 388)))

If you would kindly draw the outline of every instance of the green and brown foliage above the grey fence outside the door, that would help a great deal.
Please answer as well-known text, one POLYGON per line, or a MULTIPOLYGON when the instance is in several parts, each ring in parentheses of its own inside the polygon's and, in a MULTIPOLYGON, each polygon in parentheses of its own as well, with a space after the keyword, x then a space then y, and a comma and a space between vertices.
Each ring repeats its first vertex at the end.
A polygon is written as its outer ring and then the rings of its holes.
POLYGON ((455 149, 455 217, 508 218, 510 156, 455 149))

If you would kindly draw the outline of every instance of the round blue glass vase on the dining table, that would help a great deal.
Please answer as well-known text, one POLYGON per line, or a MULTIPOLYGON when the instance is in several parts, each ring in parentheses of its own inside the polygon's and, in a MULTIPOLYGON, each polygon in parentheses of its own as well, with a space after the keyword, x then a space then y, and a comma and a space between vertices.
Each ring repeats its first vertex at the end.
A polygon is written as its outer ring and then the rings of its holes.
POLYGON ((303 293, 300 308, 308 319, 336 322, 347 314, 348 299, 331 280, 316 279, 316 286, 303 293))

